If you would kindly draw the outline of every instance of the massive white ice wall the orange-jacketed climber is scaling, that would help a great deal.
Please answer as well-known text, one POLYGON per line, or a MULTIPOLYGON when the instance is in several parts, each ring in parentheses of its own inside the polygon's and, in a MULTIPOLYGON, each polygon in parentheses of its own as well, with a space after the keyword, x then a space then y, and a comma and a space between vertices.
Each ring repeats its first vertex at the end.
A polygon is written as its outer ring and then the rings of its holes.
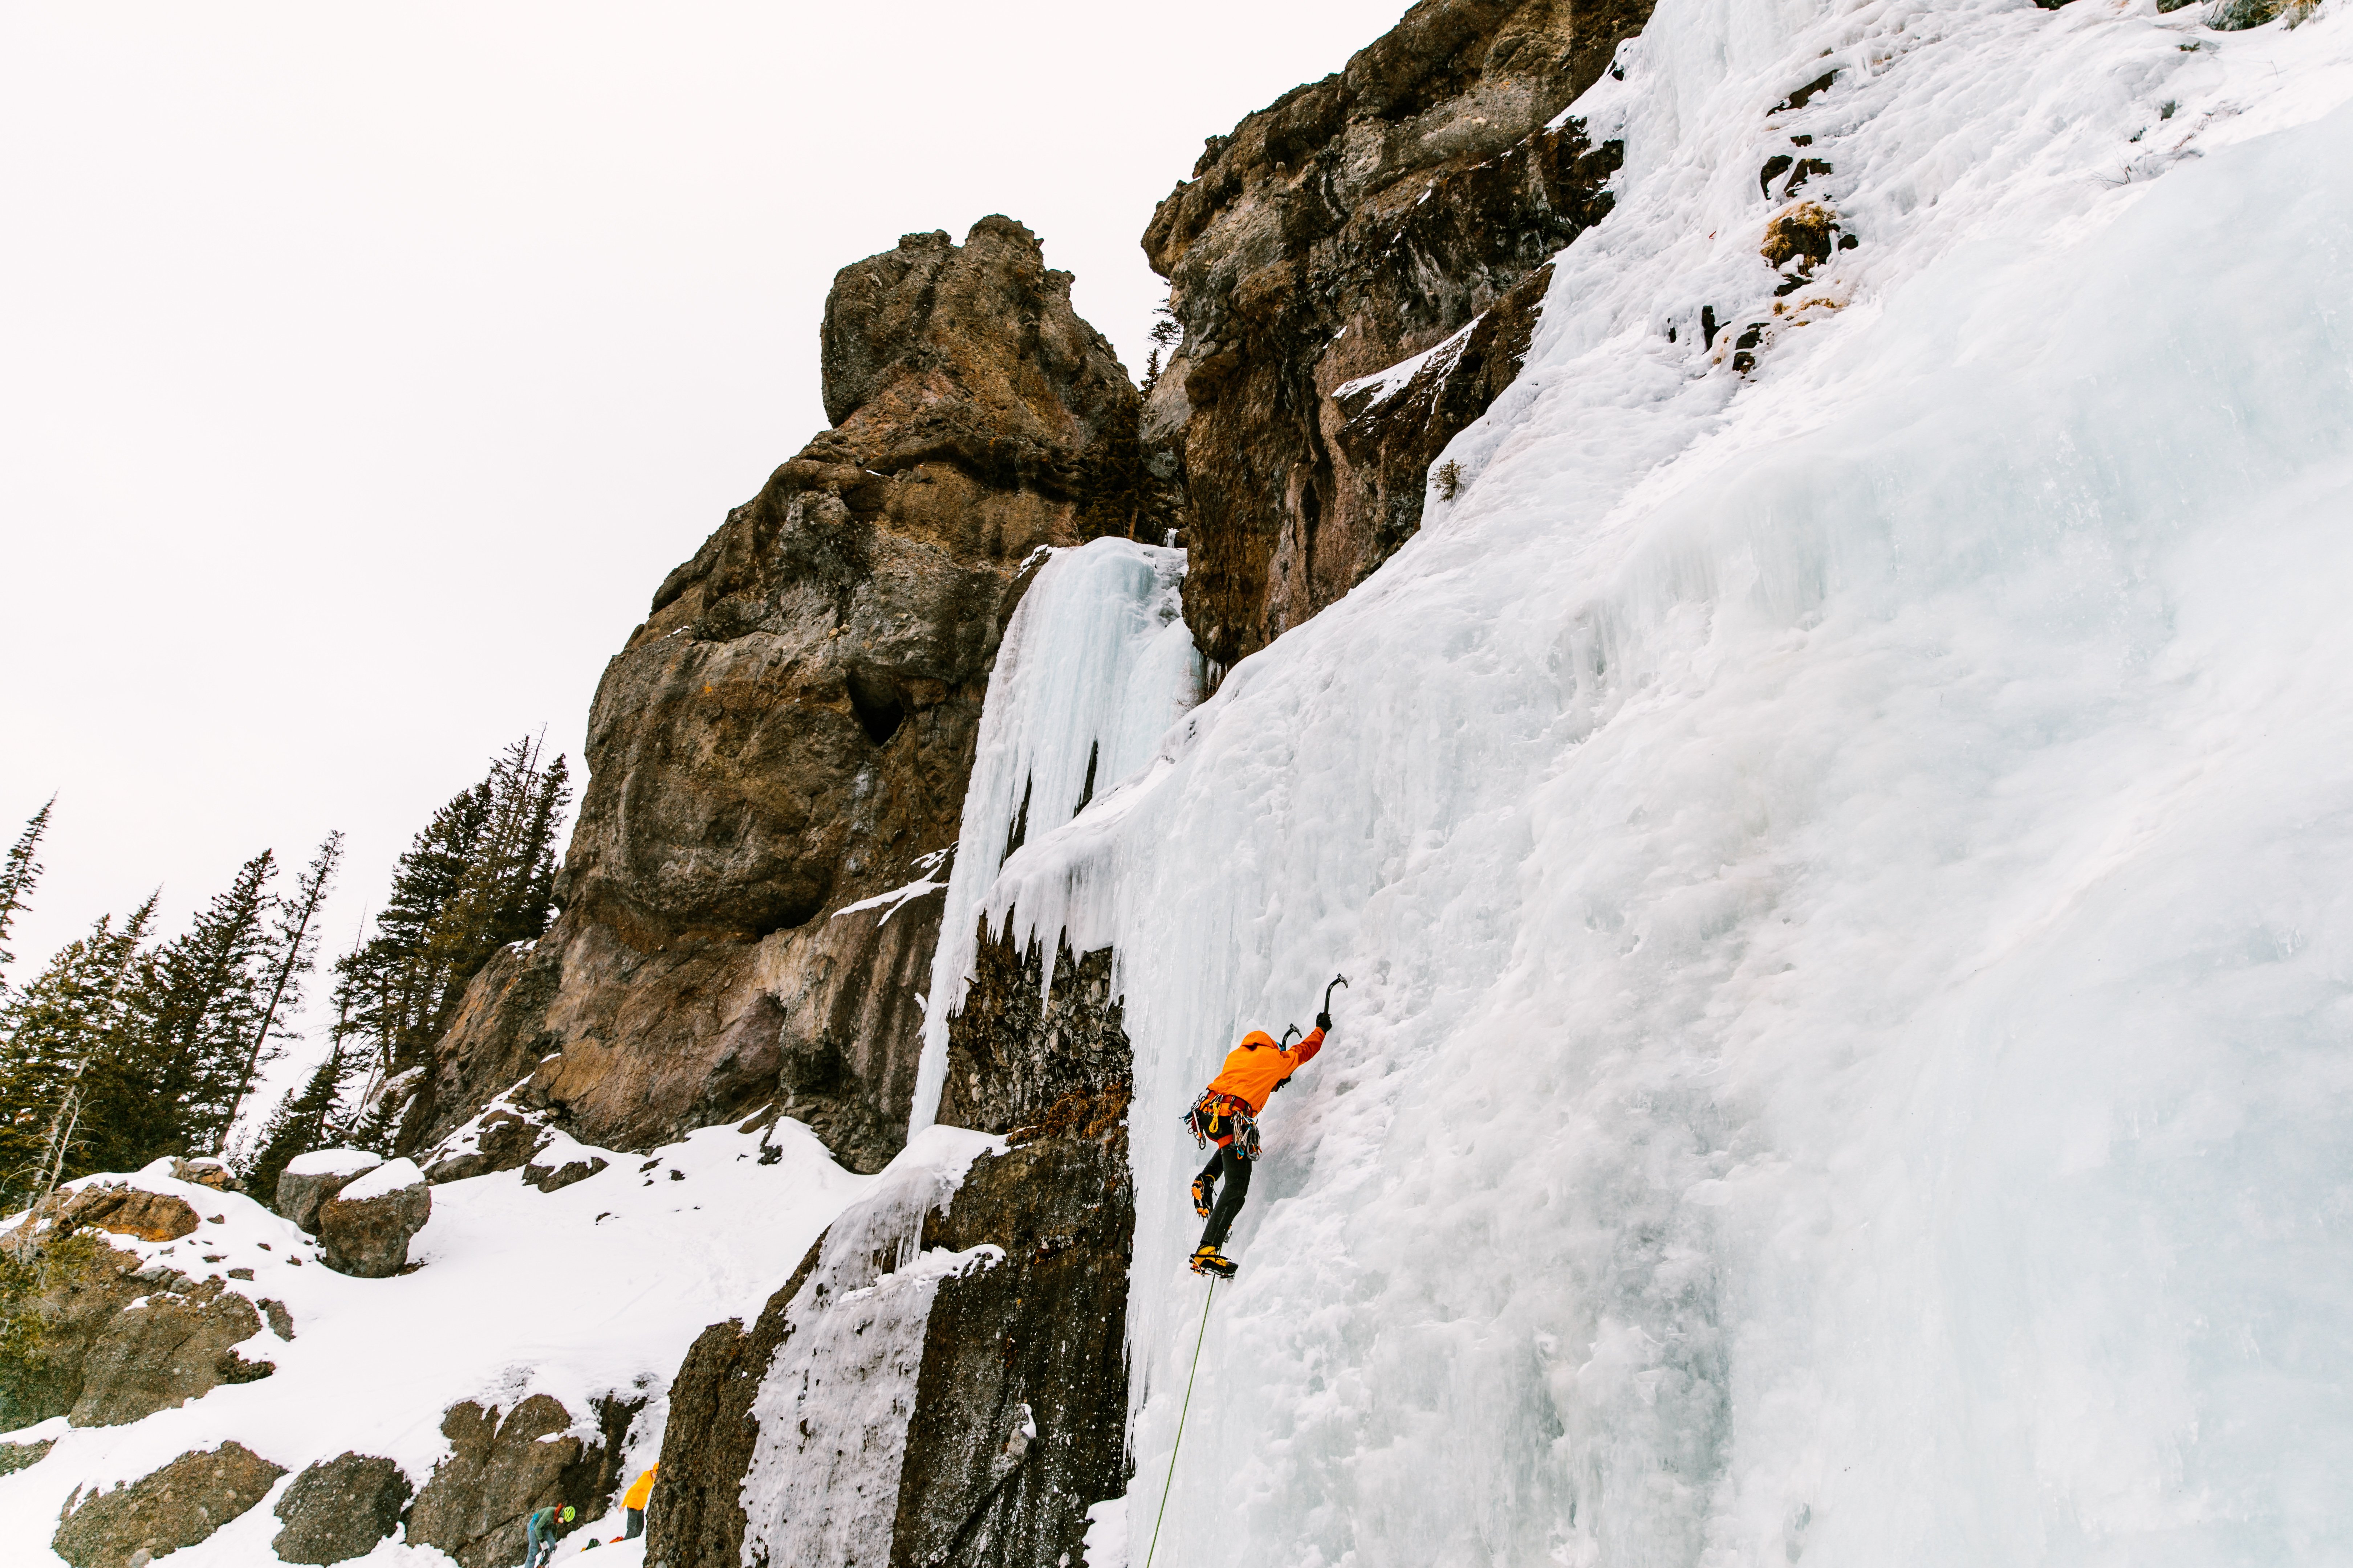
POLYGON ((2353 1559, 2339 9, 1664 0, 1579 106, 1619 205, 1459 498, 981 900, 1120 954, 1134 1561, 1151 1128, 1334 969, 1184 1554, 2353 1559), (1793 134, 1861 244, 1777 315, 1793 134))

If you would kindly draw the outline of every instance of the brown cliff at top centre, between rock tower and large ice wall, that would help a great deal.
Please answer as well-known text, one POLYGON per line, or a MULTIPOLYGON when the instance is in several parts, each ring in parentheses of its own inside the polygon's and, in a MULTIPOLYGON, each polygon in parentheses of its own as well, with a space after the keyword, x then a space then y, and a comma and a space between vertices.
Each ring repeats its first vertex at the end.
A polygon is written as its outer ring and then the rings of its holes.
POLYGON ((1619 148, 1544 127, 1649 5, 1424 0, 1346 71, 1212 136, 1160 202, 1144 252, 1184 343, 1153 388, 1148 461, 1188 503, 1186 623, 1212 663, 1332 604, 1421 527, 1431 456, 1527 353, 1541 294, 1513 289, 1609 209, 1619 148), (1334 402, 1499 306, 1518 320, 1438 355, 1424 395, 1334 402))

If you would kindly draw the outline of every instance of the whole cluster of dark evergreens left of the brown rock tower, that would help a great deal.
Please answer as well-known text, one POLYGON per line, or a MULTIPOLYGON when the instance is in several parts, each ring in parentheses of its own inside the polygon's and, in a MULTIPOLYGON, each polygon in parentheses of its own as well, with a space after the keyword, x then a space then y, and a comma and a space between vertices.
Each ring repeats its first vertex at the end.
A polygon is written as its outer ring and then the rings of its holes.
POLYGON ((167 1154, 216 1157, 268 1194, 304 1150, 391 1152, 384 1086, 424 1063, 494 952, 546 931, 569 799, 562 757, 508 745, 416 832, 381 910, 325 973, 341 832, 299 870, 273 849, 245 860, 184 931, 158 929, 155 891, 21 976, 9 929, 38 893, 56 811, 42 804, 0 865, 0 1213, 167 1154), (256 1084, 301 1041, 320 983, 332 1023, 318 1063, 264 1112, 256 1084))

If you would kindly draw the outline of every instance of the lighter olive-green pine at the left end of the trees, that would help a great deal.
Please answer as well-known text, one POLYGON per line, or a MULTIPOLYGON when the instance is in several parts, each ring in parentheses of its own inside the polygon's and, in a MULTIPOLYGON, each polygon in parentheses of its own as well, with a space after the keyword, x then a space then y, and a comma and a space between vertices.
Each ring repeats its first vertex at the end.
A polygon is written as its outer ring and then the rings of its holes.
MULTIPOLYGON (((59 947, 40 976, 0 1011, 0 1192, 16 1208, 59 1180, 127 1168, 111 1135, 118 1105, 141 1093, 146 992, 153 954, 141 952, 155 917, 151 893, 115 929, 59 947)), ((146 1164, 144 1154, 129 1164, 146 1164)))

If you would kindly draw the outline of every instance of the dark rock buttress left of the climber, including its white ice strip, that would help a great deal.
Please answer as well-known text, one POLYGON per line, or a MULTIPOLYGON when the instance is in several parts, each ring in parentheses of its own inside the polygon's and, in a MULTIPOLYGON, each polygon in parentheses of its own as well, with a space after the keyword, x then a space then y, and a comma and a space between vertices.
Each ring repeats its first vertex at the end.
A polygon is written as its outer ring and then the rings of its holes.
POLYGON ((734 1568, 748 1540, 779 1563, 824 1544, 1052 1568, 1125 1490, 1132 1058, 1111 954, 1064 957, 1047 1009, 1038 947, 984 950, 951 1051, 960 1105, 1007 1147, 939 1201, 894 1166, 751 1328, 704 1331, 671 1387, 647 1563, 734 1568))

